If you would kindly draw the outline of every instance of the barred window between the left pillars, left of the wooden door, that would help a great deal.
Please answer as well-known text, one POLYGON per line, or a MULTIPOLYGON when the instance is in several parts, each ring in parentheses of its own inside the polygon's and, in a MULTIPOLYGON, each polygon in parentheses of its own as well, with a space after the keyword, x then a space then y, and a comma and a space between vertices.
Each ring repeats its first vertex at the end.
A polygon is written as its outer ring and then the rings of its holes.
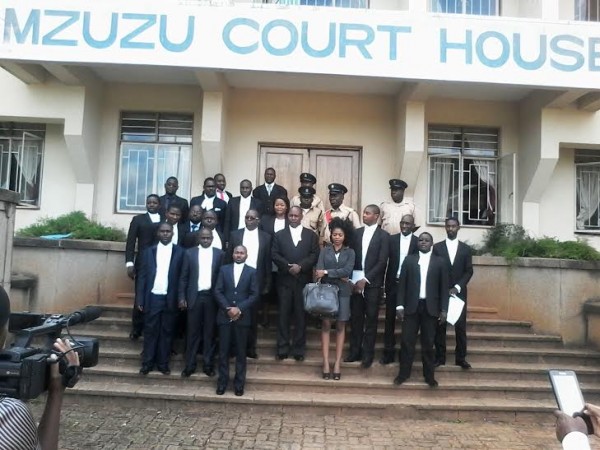
POLYGON ((146 196, 162 195, 170 176, 189 198, 193 126, 192 114, 121 113, 118 212, 145 211, 146 196))

